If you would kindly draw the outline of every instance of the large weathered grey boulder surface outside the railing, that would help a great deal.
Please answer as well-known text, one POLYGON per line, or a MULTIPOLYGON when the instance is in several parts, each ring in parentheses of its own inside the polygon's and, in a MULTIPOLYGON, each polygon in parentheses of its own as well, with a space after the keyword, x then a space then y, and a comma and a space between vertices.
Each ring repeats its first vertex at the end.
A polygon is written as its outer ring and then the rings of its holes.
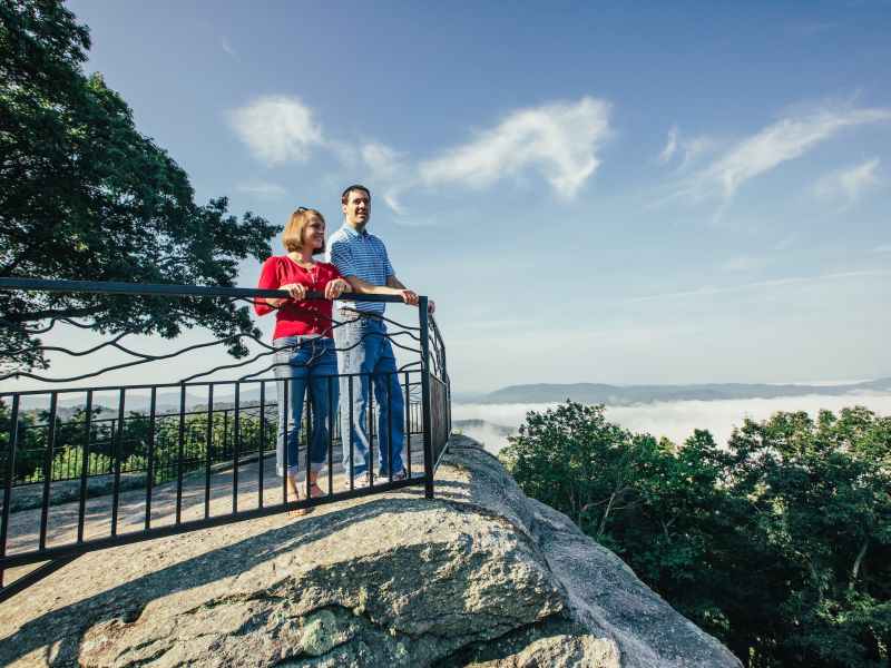
POLYGON ((740 666, 461 438, 434 500, 403 490, 81 557, 0 606, 0 664, 740 666))

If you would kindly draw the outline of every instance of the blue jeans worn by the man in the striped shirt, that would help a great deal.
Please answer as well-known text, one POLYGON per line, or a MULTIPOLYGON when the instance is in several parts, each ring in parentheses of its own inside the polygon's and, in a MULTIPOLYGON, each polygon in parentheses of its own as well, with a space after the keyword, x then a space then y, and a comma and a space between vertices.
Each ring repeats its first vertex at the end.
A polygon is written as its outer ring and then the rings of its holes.
POLYGON ((369 386, 374 386, 378 414, 378 464, 379 475, 400 473, 402 445, 405 438, 404 401, 396 373, 393 346, 386 338, 386 326, 372 318, 360 317, 334 330, 337 350, 341 351, 341 373, 361 374, 347 379, 341 376, 341 435, 343 441, 343 470, 353 475, 369 470, 369 386), (371 381, 371 382, 370 382, 371 381), (352 385, 352 406, 350 387, 352 385), (389 394, 389 397, 388 397, 389 394), (352 407, 352 424, 350 415, 352 407))

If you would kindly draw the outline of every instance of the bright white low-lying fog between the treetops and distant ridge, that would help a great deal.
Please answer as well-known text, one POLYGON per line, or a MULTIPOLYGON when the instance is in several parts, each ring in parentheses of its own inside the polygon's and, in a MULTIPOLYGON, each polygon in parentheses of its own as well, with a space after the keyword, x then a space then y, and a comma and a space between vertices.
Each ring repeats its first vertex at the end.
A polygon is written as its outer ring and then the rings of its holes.
MULTIPOLYGON (((498 452, 508 444, 507 438, 489 424, 516 430, 526 421, 529 411, 544 412, 558 404, 473 404, 453 403, 452 422, 459 420, 484 420, 486 425, 456 425, 462 433, 483 443, 486 449, 498 452)), ((839 396, 787 396, 777 399, 746 399, 730 401, 668 401, 634 406, 607 406, 606 418, 610 422, 635 433, 648 432, 654 436, 667 436, 682 443, 693 435, 695 429, 707 429, 719 444, 726 443, 734 426, 744 418, 766 420, 777 411, 806 411, 816 418, 821 409, 838 412, 845 406, 862 405, 881 415, 891 414, 891 394, 844 394, 839 396)))

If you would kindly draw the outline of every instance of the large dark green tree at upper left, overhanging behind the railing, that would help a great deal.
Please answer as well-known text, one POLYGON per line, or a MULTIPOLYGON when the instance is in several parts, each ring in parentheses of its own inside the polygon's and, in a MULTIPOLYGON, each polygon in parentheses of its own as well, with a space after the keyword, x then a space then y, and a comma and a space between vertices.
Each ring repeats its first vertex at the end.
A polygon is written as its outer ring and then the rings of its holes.
MULTIPOLYGON (((141 135, 120 96, 81 66, 89 31, 59 0, 0 0, 0 276, 232 286, 278 227, 199 206, 187 175, 141 135)), ((0 346, 45 366, 35 323, 174 337, 202 325, 244 354, 248 308, 210 298, 0 293, 0 346)))

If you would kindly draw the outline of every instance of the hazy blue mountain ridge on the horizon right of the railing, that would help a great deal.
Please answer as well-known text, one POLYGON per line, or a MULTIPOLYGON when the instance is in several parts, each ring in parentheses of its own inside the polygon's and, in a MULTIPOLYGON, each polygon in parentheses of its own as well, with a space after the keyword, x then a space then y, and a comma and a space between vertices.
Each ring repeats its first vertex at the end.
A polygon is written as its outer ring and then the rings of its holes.
POLYGON ((698 385, 607 385, 570 383, 509 385, 474 400, 473 403, 551 403, 567 399, 613 406, 662 401, 721 401, 732 399, 776 399, 779 396, 839 395, 891 391, 891 376, 843 385, 767 385, 764 383, 707 383, 698 385))

